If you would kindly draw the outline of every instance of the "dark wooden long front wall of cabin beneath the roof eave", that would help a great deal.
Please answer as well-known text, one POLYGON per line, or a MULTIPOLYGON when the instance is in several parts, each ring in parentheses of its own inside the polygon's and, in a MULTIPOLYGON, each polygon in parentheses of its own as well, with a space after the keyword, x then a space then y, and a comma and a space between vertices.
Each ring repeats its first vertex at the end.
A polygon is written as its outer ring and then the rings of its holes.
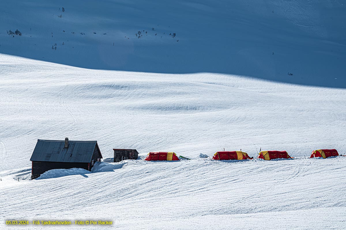
POLYGON ((41 175, 51 169, 72 169, 82 168, 88 170, 88 163, 81 162, 50 162, 50 161, 33 161, 32 175, 41 175))

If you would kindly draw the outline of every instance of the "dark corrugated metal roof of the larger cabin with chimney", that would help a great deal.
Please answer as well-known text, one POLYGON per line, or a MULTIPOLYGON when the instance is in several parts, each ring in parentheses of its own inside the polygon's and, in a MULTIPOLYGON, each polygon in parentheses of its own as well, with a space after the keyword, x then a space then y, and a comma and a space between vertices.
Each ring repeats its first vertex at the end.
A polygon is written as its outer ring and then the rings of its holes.
MULTIPOLYGON (((101 152, 97 141, 70 141, 68 148, 65 141, 38 139, 30 161, 52 161, 52 162, 90 162, 97 146, 100 156, 101 152)), ((102 158, 102 156, 101 156, 102 158)))

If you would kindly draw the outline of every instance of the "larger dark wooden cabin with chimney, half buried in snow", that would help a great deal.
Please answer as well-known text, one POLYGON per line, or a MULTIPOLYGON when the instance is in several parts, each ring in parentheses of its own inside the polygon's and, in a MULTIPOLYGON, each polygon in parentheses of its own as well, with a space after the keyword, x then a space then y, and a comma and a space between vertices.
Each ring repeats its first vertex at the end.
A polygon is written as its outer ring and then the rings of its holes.
POLYGON ((97 141, 37 140, 31 161, 31 179, 51 169, 91 170, 102 155, 97 141))

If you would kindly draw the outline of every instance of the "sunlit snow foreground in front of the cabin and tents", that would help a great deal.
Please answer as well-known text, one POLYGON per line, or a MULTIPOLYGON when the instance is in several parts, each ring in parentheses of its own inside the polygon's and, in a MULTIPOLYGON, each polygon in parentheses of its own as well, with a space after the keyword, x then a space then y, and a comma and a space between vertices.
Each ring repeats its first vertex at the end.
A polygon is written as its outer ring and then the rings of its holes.
MULTIPOLYGON (((22 168, 0 172, 0 213, 1 219, 113 221, 74 229, 342 230, 345 165, 346 157, 127 160, 18 182, 30 174, 22 168)), ((3 225, 66 229, 19 227, 3 225)))

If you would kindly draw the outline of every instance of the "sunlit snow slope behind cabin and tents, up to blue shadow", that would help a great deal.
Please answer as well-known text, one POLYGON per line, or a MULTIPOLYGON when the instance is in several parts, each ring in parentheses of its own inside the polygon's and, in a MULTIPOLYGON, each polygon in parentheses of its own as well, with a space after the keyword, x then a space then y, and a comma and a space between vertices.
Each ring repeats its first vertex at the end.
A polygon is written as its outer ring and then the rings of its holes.
POLYGON ((37 139, 97 140, 186 157, 239 150, 346 152, 346 90, 225 74, 90 70, 0 55, 0 170, 27 167, 37 139))

